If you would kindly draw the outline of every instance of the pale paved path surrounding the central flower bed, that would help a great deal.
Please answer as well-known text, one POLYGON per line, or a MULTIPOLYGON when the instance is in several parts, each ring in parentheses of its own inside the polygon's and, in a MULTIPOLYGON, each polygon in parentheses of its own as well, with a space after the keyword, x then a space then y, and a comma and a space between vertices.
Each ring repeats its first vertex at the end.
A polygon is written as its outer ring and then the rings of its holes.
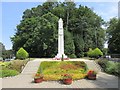
POLYGON ((2 88, 118 88, 118 78, 101 72, 100 67, 94 61, 84 59, 71 59, 72 61, 84 61, 88 68, 98 71, 97 80, 81 79, 74 81, 71 85, 61 84, 59 81, 44 81, 34 83, 33 76, 41 61, 52 61, 51 59, 35 59, 29 61, 20 75, 3 78, 2 88))

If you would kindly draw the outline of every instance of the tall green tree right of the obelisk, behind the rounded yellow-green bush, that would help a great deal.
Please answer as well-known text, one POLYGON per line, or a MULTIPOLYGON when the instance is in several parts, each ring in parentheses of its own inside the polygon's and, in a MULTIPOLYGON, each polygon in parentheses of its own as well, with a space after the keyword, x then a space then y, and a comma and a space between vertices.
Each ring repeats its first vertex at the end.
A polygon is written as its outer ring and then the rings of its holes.
POLYGON ((74 36, 77 56, 83 56, 83 52, 88 51, 89 48, 102 49, 105 32, 101 26, 104 21, 86 6, 80 5, 74 11, 74 16, 70 18, 69 31, 74 36))

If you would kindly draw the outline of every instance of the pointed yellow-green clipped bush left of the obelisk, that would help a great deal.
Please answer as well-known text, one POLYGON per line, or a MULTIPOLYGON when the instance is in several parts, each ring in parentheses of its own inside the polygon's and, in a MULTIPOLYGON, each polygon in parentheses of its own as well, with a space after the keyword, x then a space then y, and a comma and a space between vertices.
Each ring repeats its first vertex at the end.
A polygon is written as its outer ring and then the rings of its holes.
POLYGON ((25 49, 20 48, 17 51, 16 56, 17 56, 18 59, 26 59, 26 58, 28 58, 29 54, 28 54, 28 52, 25 49))

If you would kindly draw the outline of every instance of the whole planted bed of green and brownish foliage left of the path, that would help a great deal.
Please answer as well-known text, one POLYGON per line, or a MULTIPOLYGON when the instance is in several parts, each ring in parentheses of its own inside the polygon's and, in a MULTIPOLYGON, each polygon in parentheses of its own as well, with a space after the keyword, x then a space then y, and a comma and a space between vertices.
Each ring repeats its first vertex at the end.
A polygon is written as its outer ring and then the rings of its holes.
POLYGON ((0 77, 9 77, 15 76, 21 73, 23 67, 27 64, 28 60, 13 60, 10 62, 2 62, 0 63, 0 77), (2 73, 2 74, 1 74, 2 73))

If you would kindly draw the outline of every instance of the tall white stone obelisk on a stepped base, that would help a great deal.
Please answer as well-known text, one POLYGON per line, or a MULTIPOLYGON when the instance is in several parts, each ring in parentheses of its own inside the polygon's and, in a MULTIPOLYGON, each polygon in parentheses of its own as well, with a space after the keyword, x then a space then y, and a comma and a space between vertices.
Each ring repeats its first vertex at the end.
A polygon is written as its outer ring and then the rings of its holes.
POLYGON ((57 59, 67 58, 64 54, 64 32, 63 32, 63 20, 62 18, 58 21, 58 54, 55 56, 57 59))

